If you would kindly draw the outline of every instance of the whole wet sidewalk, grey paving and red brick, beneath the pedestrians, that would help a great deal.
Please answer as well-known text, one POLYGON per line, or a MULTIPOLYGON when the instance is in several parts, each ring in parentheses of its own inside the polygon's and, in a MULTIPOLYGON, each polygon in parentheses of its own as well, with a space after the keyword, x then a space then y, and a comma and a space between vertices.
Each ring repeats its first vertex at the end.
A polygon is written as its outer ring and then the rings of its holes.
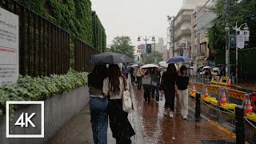
MULTIPOLYGON (((144 103, 142 90, 131 87, 134 112, 129 114, 129 119, 136 131, 136 135, 132 138, 133 143, 194 144, 207 143, 207 140, 232 140, 231 135, 206 120, 194 122, 193 111, 190 111, 187 121, 178 116, 174 118, 163 116, 164 99, 159 104, 153 100, 150 103, 144 103)), ((93 143, 89 106, 66 122, 66 125, 58 130, 48 142, 48 144, 59 143, 93 143)), ((108 129, 108 143, 115 143, 110 128, 108 129)))

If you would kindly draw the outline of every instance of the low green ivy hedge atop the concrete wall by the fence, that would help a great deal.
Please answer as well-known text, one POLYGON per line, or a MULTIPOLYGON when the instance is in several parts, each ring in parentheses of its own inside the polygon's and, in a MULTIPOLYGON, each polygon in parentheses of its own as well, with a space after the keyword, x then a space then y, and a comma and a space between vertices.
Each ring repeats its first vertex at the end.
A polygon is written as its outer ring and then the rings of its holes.
MULTIPOLYGON (((70 70, 65 75, 50 75, 50 77, 32 78, 20 77, 11 86, 0 86, 0 115, 6 113, 6 101, 41 101, 72 90, 87 83, 87 73, 70 70)), ((10 105, 10 116, 18 107, 10 105)))

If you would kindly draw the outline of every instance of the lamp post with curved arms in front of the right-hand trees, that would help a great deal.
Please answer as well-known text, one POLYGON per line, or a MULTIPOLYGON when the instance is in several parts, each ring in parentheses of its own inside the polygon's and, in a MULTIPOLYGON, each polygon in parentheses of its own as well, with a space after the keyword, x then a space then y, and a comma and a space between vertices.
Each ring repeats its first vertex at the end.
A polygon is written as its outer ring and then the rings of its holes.
POLYGON ((233 28, 233 30, 235 30, 235 40, 236 40, 236 44, 235 44, 236 73, 235 73, 235 77, 236 77, 236 82, 238 84, 238 41, 237 41, 237 39, 238 39, 238 31, 241 30, 242 26, 244 26, 244 30, 249 30, 249 27, 247 26, 246 23, 243 23, 239 27, 238 27, 238 22, 235 22, 235 26, 232 26, 230 23, 226 23, 225 30, 230 32, 230 26, 233 28))

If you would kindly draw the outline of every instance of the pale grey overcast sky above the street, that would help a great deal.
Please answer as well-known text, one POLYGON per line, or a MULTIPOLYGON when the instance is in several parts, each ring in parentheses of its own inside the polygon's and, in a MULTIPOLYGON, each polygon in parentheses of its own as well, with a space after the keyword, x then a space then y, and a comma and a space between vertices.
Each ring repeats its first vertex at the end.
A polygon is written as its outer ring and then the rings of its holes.
MULTIPOLYGON (((182 0, 91 0, 106 30, 107 45, 116 36, 130 36, 138 45, 138 35, 154 35, 166 39, 167 15, 174 16, 182 7, 182 0)), ((166 42, 166 41, 165 41, 166 42)), ((144 42, 141 42, 144 43, 144 42)))

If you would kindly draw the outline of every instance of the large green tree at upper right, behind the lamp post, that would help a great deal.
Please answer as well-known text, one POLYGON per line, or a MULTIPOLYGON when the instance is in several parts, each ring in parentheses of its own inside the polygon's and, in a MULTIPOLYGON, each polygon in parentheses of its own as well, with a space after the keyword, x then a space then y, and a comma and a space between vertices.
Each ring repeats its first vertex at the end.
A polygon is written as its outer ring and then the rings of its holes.
MULTIPOLYGON (((209 29, 210 47, 215 51, 215 63, 225 63, 225 47, 226 47, 226 9, 225 0, 219 0, 214 7, 214 13, 217 14, 212 22, 213 26, 209 29)), ((238 26, 246 22, 250 28, 250 42, 247 47, 256 46, 256 1, 252 0, 230 0, 230 24, 233 26, 238 22, 238 26)), ((235 34, 230 27, 230 34, 235 34)), ((232 55, 233 49, 230 52, 230 63, 235 63, 235 57, 232 55)))

